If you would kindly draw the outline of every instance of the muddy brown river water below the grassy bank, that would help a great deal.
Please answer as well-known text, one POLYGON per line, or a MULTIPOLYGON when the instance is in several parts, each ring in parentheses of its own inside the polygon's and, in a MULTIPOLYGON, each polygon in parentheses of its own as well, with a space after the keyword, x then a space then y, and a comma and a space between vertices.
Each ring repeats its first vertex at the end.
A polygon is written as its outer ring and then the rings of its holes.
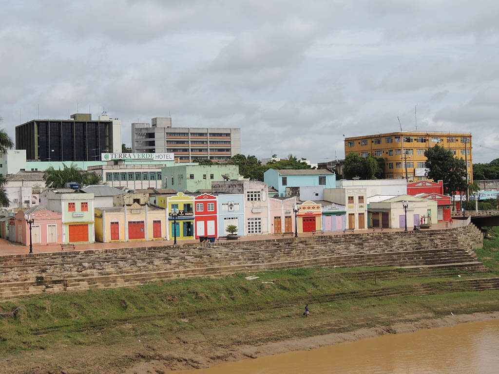
POLYGON ((496 374, 499 319, 384 335, 177 374, 496 374))

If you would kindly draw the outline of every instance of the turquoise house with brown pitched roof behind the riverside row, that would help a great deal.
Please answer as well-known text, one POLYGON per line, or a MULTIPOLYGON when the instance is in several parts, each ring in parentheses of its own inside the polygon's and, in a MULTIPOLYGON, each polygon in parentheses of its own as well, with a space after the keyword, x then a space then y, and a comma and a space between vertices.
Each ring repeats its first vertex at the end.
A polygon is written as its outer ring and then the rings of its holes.
POLYGON ((277 189, 279 196, 285 196, 286 187, 336 188, 336 175, 326 169, 269 169, 263 173, 263 182, 277 189))

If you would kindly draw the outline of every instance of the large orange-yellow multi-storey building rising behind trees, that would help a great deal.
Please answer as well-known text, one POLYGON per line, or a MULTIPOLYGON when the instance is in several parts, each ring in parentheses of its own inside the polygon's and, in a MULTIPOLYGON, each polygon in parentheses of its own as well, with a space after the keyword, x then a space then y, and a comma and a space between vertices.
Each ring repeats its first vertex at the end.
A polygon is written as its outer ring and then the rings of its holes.
POLYGON ((406 179, 407 175, 409 182, 423 181, 428 179, 425 151, 437 144, 467 162, 468 182, 473 182, 471 133, 403 131, 345 138, 345 155, 354 152, 361 157, 382 157, 386 179, 406 179))

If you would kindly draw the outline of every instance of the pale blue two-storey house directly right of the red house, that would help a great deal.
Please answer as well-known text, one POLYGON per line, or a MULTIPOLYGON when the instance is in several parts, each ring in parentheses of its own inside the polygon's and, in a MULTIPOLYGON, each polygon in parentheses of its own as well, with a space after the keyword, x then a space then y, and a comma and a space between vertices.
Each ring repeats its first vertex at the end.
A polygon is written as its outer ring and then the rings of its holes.
POLYGON ((227 226, 238 227, 237 234, 245 234, 245 204, 242 193, 221 193, 218 195, 218 232, 219 236, 226 236, 227 226))

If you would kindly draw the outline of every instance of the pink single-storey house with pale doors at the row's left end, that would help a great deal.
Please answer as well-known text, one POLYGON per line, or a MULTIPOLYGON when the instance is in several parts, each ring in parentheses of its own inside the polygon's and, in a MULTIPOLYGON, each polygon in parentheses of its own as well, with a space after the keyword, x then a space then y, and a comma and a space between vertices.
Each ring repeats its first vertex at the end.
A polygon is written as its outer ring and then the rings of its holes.
POLYGON ((36 205, 26 210, 15 213, 15 241, 29 246, 29 224, 26 223, 24 214, 30 219, 34 216, 31 225, 31 238, 33 245, 50 245, 62 243, 62 215, 36 205))

